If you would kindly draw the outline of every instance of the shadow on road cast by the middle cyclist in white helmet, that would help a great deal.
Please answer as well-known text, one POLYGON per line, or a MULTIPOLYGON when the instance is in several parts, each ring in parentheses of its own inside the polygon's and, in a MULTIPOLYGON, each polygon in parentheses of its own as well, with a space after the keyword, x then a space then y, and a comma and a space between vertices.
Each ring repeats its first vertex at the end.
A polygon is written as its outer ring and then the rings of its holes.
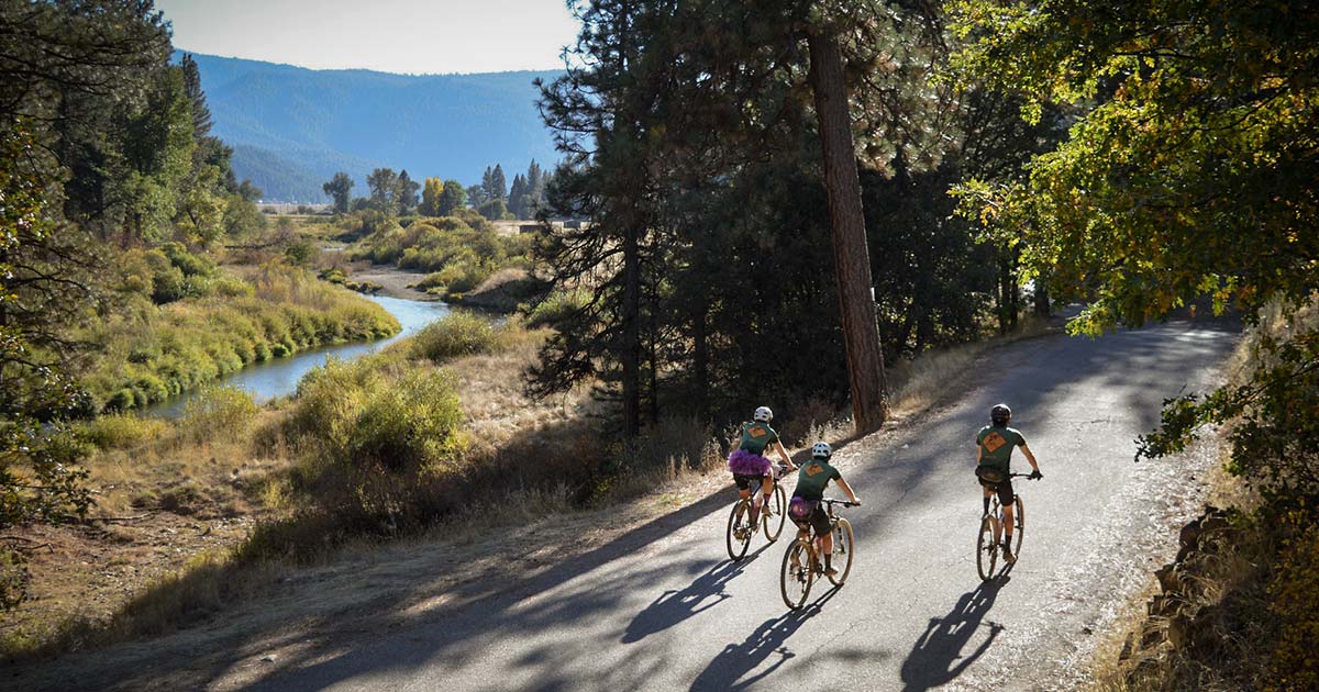
POLYGON ((768 678, 780 666, 797 655, 783 646, 787 643, 787 638, 805 625, 807 620, 815 617, 835 593, 838 593, 838 587, 806 604, 799 610, 789 610, 773 620, 766 620, 761 626, 756 627, 756 631, 747 637, 745 642, 725 646, 691 683, 691 691, 747 689, 768 678), (777 655, 778 660, 764 671, 743 680, 744 675, 756 670, 756 667, 772 655, 777 655))

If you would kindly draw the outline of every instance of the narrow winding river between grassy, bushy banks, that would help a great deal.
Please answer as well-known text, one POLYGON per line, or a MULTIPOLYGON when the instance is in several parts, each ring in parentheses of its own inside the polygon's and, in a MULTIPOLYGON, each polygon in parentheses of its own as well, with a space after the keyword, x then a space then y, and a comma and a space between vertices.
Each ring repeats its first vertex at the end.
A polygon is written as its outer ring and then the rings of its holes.
MULTIPOLYGON (((265 403, 276 397, 293 394, 298 389, 298 381, 302 380, 302 376, 311 372, 313 368, 323 365, 326 359, 331 356, 340 360, 357 359, 415 333, 422 327, 450 312, 450 307, 438 301, 409 301, 406 298, 389 298, 384 295, 365 295, 365 298, 380 303, 388 310, 398 320, 398 324, 402 326, 402 330, 389 339, 338 344, 303 351, 286 359, 256 362, 228 377, 216 380, 215 384, 244 389, 252 394, 252 398, 257 403, 265 403)), ((195 390, 185 391, 178 397, 142 409, 142 414, 157 418, 178 418, 183 415, 183 407, 195 395, 195 390)))

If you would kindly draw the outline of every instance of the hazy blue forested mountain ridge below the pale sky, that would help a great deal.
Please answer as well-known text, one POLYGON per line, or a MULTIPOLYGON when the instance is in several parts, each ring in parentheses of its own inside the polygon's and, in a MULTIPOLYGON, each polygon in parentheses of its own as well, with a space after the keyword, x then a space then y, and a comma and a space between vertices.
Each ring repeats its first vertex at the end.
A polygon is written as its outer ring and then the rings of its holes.
POLYGON ((485 166, 501 163, 512 182, 533 158, 545 167, 558 159, 532 80, 559 72, 414 76, 193 57, 212 133, 266 200, 323 202, 321 185, 339 170, 365 196, 367 174, 380 166, 474 185, 485 166))

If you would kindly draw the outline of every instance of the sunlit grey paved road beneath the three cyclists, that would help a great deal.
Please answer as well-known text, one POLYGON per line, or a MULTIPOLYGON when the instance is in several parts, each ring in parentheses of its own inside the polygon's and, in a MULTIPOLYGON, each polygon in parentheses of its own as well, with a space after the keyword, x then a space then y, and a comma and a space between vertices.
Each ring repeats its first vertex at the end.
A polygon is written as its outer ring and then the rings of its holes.
POLYGON ((1148 577, 1141 543, 1157 539, 1146 534, 1167 540, 1151 529, 1163 496, 1206 463, 1137 465, 1132 440, 1162 398, 1211 384, 1233 343, 1225 328, 1171 323, 997 352, 962 403, 839 452, 865 502, 845 510, 856 564, 844 588, 818 585, 802 612, 778 598, 786 540, 728 562, 720 496, 510 593, 437 610, 259 688, 1070 687, 1062 675, 1088 631, 1148 577), (1018 486, 1029 513, 1021 562, 981 584, 972 436, 997 401, 1013 406, 1046 478, 1018 486))

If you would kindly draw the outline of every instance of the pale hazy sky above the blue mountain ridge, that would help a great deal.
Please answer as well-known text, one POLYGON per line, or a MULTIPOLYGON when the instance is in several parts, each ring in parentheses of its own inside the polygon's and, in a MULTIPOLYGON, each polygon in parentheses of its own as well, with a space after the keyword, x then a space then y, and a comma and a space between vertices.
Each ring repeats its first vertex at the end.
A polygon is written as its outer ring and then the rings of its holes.
POLYGON ((313 69, 499 72, 563 67, 563 0, 157 0, 174 47, 313 69))

